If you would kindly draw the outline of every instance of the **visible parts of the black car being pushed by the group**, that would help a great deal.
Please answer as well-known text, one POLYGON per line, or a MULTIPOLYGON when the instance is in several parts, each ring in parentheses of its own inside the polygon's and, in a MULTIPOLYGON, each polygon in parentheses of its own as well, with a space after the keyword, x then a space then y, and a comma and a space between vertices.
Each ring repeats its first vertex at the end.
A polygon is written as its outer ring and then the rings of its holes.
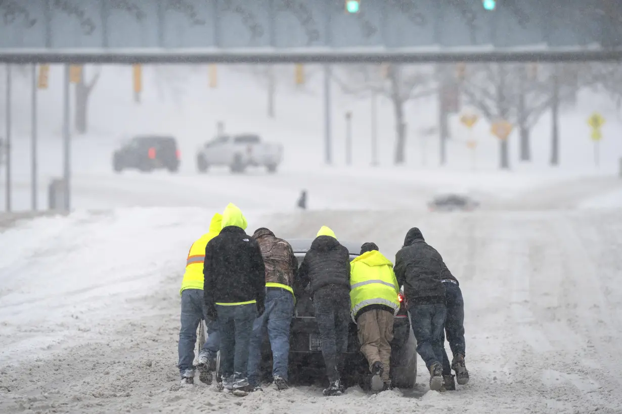
MULTIPOLYGON (((299 266, 302 264, 302 259, 309 250, 312 241, 312 239, 289 240, 299 266)), ((343 241, 340 243, 350 251, 351 260, 360 253, 360 243, 343 241)), ((410 389, 417 379, 417 341, 412 334, 408 312, 406 311, 406 300, 402 292, 399 294, 399 299, 401 307, 394 318, 394 338, 391 343, 391 380, 393 385, 400 389, 410 389)), ((317 381, 324 384, 327 382, 322 358, 322 341, 315 322, 313 302, 307 294, 297 298, 289 335, 290 382, 292 384, 311 384, 317 381)), ((360 349, 356 323, 351 321, 343 382, 346 387, 360 385, 366 390, 369 389, 371 374, 360 349)), ((267 336, 262 346, 262 376, 266 382, 272 379, 272 352, 267 336)))

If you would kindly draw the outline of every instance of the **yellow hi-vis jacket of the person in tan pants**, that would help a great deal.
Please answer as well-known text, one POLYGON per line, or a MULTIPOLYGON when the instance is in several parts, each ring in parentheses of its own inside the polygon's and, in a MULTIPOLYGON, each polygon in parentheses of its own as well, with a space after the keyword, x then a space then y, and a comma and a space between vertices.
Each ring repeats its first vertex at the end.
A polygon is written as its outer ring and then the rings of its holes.
MULTIPOLYGON (((350 311, 356 313, 368 305, 385 305, 399 310, 399 284, 393 264, 378 250, 366 251, 350 262, 350 311)), ((355 320, 356 322, 356 320, 355 320)))

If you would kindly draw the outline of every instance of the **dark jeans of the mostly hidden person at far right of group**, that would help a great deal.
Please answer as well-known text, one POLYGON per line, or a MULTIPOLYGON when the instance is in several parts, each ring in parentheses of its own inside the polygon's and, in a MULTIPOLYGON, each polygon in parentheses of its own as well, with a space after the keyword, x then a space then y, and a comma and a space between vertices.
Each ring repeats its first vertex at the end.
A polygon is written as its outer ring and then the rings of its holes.
MULTIPOLYGON (((445 333, 447 341, 452 349, 452 354, 465 355, 465 304, 462 300, 460 286, 451 282, 443 282, 445 285, 445 305, 447 305, 447 318, 445 318, 445 333)), ((445 352, 445 333, 443 333, 443 375, 451 375, 452 367, 445 352)))

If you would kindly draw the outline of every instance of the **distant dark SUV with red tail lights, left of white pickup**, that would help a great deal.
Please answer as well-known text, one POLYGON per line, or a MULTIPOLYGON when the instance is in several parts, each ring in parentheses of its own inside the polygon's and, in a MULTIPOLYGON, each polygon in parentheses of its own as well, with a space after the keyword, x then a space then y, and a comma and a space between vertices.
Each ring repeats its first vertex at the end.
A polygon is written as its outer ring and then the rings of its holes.
POLYGON ((177 173, 179 158, 175 138, 144 135, 132 138, 114 151, 113 168, 117 173, 130 168, 144 172, 166 168, 171 173, 177 173))

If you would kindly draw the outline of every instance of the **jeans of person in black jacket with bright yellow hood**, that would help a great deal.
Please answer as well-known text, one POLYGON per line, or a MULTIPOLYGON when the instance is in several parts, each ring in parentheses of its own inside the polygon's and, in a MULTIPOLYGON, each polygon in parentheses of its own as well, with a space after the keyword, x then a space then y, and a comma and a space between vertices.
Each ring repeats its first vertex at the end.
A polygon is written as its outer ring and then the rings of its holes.
POLYGON ((246 377, 248 344, 257 317, 257 304, 216 305, 220 328, 220 371, 223 378, 239 372, 246 377))

